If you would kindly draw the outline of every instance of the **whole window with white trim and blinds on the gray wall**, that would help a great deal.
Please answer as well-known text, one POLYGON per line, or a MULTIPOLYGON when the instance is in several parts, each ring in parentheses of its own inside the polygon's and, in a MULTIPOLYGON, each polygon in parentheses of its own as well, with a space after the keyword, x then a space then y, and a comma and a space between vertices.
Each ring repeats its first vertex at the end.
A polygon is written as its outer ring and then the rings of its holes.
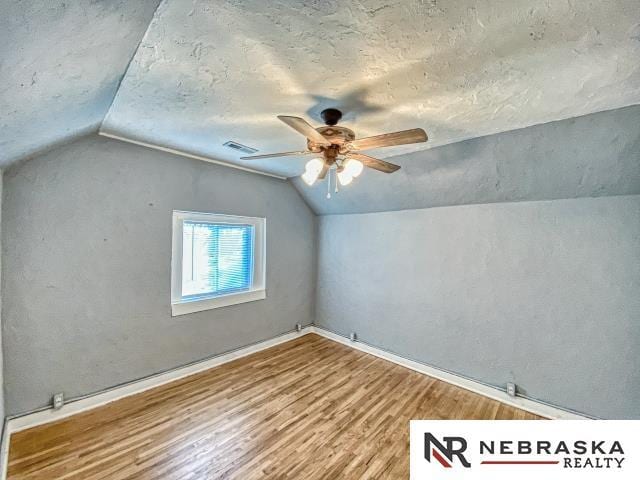
POLYGON ((265 219, 173 212, 172 315, 266 297, 265 219))

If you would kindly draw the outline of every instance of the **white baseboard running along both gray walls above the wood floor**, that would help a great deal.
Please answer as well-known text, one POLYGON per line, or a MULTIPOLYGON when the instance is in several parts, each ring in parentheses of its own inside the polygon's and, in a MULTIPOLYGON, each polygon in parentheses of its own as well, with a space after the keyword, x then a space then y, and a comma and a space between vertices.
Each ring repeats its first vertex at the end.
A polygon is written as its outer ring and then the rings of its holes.
POLYGON ((82 398, 80 400, 71 401, 59 410, 48 409, 30 413, 20 417, 10 418, 5 421, 4 429, 2 432, 2 441, 0 444, 0 480, 6 479, 7 462, 9 455, 9 438, 10 435, 14 432, 19 432, 21 430, 25 430, 27 428, 32 428, 49 422, 55 422, 71 415, 75 415, 86 410, 91 410, 92 408, 96 408, 107 403, 111 403, 140 392, 144 392, 145 390, 149 390, 151 388, 159 387, 166 383, 188 377, 189 375, 193 375, 195 373, 199 373, 213 367, 217 367, 237 358, 246 357, 247 355, 251 355, 252 353, 274 347, 281 343, 288 342, 290 340, 310 333, 316 333, 322 337, 328 338, 329 340, 333 340, 348 347, 355 348, 356 350, 360 350, 370 355, 388 360, 397 365, 409 368, 424 375, 437 378, 438 380, 442 380, 452 385, 464 388, 465 390, 470 390, 480 395, 484 395, 485 397, 498 400, 507 405, 526 410, 545 418, 557 420, 585 420, 589 418, 574 412, 569 412, 544 403, 536 402, 528 398, 510 397, 506 394, 506 392, 503 392, 502 390, 499 390, 497 388, 490 387, 488 385, 484 385, 482 383, 478 383, 464 377, 459 377, 452 373, 439 370, 435 367, 431 367, 423 363, 408 360, 394 353, 390 353, 361 342, 351 341, 346 337, 335 334, 317 326, 308 326, 303 328, 301 332, 286 333, 270 340, 265 340, 263 342, 259 342, 248 347, 240 348, 232 352, 218 355, 201 362, 193 363, 185 367, 177 368, 175 370, 147 377, 142 380, 134 381, 120 387, 115 387, 113 389, 106 390, 104 392, 88 396, 86 398, 82 398))

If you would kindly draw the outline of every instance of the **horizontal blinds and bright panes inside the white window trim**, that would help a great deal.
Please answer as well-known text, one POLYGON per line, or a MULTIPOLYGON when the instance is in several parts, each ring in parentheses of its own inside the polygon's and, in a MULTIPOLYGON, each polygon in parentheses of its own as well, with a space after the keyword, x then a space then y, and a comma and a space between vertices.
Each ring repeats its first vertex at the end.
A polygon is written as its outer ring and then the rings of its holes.
POLYGON ((248 290, 253 282, 253 225, 185 221, 182 297, 248 290))

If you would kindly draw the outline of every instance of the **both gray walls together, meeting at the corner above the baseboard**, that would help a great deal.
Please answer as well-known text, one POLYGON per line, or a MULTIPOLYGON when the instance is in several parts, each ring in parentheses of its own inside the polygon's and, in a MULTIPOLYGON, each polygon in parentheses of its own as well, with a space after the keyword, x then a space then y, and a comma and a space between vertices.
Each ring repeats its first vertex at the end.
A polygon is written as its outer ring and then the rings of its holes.
POLYGON ((316 235, 288 182, 97 136, 3 183, 8 414, 275 336, 315 308, 401 355, 640 418, 640 196, 325 216, 316 235), (266 216, 268 298, 172 318, 173 209, 266 216))

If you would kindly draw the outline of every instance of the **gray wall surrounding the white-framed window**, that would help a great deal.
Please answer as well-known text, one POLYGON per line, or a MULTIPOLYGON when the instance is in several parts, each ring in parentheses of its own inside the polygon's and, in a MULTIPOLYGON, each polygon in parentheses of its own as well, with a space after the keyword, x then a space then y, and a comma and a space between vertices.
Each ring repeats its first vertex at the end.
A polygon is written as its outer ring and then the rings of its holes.
POLYGON ((8 169, 8 414, 313 319, 316 217, 286 181, 90 136, 8 169), (172 210, 267 217, 267 299, 171 317, 172 210))

